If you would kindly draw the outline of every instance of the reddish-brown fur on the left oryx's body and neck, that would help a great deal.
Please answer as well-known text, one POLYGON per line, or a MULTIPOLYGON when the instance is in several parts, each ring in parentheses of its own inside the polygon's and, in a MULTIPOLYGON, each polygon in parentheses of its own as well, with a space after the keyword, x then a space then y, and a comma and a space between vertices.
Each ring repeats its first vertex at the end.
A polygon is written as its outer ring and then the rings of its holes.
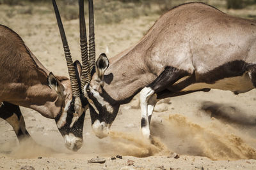
POLYGON ((60 99, 47 83, 49 71, 36 59, 18 34, 0 25, 0 101, 24 106, 54 118, 70 95, 70 81, 57 76, 67 89, 60 99))

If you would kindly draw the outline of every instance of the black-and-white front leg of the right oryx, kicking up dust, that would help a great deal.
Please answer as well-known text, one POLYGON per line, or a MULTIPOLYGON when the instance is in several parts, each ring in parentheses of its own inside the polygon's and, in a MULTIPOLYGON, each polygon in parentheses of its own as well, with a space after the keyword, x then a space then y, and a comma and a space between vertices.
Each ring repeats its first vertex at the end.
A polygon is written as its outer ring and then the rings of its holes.
POLYGON ((166 87, 175 83, 180 78, 187 76, 188 73, 180 71, 173 67, 166 67, 164 71, 150 85, 140 92, 141 107, 141 132, 145 138, 150 137, 150 119, 154 106, 157 103, 156 93, 166 89, 166 87))

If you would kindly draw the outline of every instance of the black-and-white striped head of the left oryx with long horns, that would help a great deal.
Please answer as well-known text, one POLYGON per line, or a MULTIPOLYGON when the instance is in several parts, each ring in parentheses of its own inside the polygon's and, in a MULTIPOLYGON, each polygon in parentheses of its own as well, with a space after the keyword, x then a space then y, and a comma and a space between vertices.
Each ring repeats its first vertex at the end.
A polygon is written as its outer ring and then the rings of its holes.
MULTIPOLYGON (((83 145, 83 122, 85 111, 88 109, 88 101, 83 95, 83 87, 84 84, 90 81, 91 73, 93 72, 93 65, 95 64, 94 32, 92 31, 92 29, 94 30, 94 24, 90 24, 90 50, 88 57, 84 20, 84 1, 79 0, 80 43, 83 66, 81 66, 78 61, 73 63, 55 0, 52 0, 52 5, 54 7, 58 27, 60 29, 70 81, 61 82, 52 73, 50 73, 48 76, 48 84, 51 89, 57 92, 60 101, 62 101, 61 111, 55 118, 58 129, 60 130, 63 138, 65 138, 65 145, 67 148, 76 151, 83 145)), ((90 9, 93 8, 92 1, 89 1, 89 6, 90 9)), ((92 10, 89 10, 89 17, 90 23, 93 23, 92 10)))

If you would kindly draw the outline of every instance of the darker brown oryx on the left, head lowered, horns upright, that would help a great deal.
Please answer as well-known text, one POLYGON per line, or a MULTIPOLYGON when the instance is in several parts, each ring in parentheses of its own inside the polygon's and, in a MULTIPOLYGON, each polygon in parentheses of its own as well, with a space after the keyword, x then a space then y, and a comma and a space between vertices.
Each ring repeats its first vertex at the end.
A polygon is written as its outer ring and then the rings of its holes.
MULTIPOLYGON (((79 0, 83 67, 79 61, 72 62, 58 7, 54 0, 52 4, 60 28, 70 80, 65 76, 54 76, 36 59, 16 32, 0 25, 0 117, 12 125, 19 141, 30 137, 19 106, 36 110, 44 117, 54 118, 65 139, 65 145, 76 151, 83 145, 84 115, 88 109, 88 101, 83 97, 81 89, 81 85, 86 83, 84 73, 90 71, 84 4, 79 0)), ((90 21, 93 22, 93 13, 90 11, 90 21)), ((94 48, 94 38, 90 42, 90 47, 94 48)))

